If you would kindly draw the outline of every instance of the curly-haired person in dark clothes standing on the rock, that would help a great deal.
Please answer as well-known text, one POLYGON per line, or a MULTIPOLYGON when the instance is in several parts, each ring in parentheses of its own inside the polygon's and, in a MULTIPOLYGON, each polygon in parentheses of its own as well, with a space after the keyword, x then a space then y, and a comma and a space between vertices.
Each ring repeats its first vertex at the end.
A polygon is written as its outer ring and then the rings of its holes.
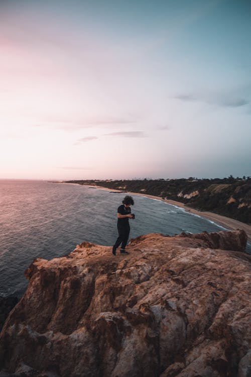
POLYGON ((127 246, 127 241, 129 238, 130 233, 130 225, 129 219, 134 219, 135 216, 131 213, 130 206, 134 205, 134 200, 130 196, 124 197, 122 201, 123 204, 118 207, 117 209, 117 231, 118 237, 117 240, 112 247, 112 254, 116 255, 116 248, 121 243, 120 253, 121 254, 129 254, 125 249, 127 246))

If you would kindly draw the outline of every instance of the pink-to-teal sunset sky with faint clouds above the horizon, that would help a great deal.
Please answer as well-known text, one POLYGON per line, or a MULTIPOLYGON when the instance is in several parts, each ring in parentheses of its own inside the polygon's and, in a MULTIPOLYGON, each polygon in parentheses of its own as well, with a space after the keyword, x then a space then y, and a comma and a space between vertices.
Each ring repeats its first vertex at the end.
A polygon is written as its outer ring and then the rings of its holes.
POLYGON ((249 0, 0 0, 0 178, 251 176, 249 0))

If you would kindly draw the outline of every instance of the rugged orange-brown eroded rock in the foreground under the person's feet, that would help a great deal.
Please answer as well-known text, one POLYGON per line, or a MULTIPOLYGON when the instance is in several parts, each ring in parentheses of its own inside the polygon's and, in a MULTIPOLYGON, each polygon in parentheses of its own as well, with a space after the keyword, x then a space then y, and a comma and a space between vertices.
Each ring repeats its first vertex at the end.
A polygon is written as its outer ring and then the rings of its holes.
POLYGON ((131 241, 130 255, 83 242, 65 257, 36 259, 1 333, 2 370, 250 376, 251 257, 229 251, 245 242, 243 231, 148 234, 131 241))

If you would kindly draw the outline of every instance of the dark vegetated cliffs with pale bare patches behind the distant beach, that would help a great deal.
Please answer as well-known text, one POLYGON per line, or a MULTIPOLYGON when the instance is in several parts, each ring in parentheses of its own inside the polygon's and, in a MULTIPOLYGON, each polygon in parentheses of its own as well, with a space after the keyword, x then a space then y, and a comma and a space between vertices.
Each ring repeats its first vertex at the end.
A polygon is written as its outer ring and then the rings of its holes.
MULTIPOLYGON (((245 178, 245 177, 244 177, 245 178)), ((75 180, 71 183, 98 185, 148 194, 181 202, 200 211, 210 211, 251 224, 251 178, 75 180)))

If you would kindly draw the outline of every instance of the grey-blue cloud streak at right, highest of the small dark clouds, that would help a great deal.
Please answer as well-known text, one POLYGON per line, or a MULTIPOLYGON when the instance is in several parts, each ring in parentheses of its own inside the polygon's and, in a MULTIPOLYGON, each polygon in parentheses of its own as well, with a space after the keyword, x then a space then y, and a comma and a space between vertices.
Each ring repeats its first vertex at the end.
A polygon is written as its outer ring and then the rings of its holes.
POLYGON ((247 99, 244 99, 241 96, 232 95, 231 93, 201 93, 200 95, 188 93, 175 96, 174 98, 181 101, 200 101, 209 105, 231 108, 237 108, 249 104, 247 99))

